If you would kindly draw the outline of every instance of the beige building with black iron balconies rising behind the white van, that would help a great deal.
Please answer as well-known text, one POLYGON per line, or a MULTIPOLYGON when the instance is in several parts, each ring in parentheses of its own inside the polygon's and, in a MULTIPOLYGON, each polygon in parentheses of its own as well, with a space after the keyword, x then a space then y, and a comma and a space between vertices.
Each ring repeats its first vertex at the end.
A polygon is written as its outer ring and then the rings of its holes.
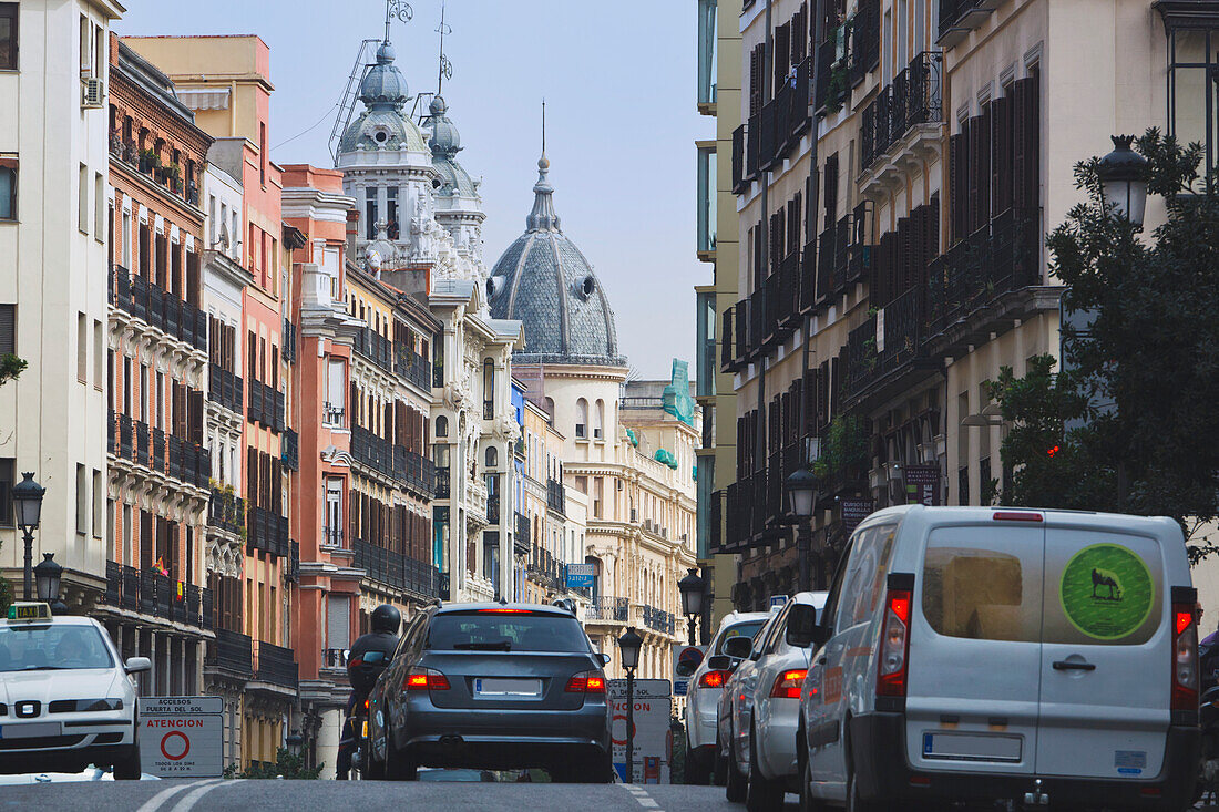
POLYGON ((737 606, 798 584, 783 479, 808 440, 822 480, 814 585, 870 510, 976 505, 1002 484, 985 382, 1058 352, 1043 243, 1080 199, 1072 166, 1114 133, 1202 132, 1204 99, 1168 61, 1164 34, 1214 27, 1199 21, 1209 5, 745 10, 741 293, 720 324, 740 432, 724 536, 744 557, 737 606), (1192 104, 1165 104, 1174 73, 1192 104))

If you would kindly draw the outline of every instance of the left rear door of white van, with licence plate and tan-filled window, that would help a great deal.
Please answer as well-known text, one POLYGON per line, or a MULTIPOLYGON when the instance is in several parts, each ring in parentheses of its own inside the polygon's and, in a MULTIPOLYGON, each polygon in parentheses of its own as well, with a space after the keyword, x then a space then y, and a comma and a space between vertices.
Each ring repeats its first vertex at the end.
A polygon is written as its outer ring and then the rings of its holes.
POLYGON ((909 643, 914 769, 1034 772, 1043 555, 1041 522, 931 527, 909 643))

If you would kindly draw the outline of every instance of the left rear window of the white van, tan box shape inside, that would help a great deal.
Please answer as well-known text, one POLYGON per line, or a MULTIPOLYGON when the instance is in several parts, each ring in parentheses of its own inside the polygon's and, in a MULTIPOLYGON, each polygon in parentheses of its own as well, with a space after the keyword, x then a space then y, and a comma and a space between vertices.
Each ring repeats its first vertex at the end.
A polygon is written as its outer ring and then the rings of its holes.
POLYGON ((1028 556, 1019 551, 939 546, 933 535, 923 561, 926 622, 950 638, 1040 639, 1040 546, 1028 556))

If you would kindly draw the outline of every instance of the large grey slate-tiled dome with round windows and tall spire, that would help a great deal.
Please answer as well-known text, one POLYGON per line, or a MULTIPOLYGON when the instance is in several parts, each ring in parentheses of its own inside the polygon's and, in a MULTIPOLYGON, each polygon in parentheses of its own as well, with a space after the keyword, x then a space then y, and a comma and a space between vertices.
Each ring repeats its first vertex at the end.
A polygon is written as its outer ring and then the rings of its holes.
POLYGON ((549 171, 542 155, 527 230, 488 280, 491 316, 522 323, 524 347, 513 352, 516 363, 624 367, 610 300, 592 266, 558 227, 549 171))

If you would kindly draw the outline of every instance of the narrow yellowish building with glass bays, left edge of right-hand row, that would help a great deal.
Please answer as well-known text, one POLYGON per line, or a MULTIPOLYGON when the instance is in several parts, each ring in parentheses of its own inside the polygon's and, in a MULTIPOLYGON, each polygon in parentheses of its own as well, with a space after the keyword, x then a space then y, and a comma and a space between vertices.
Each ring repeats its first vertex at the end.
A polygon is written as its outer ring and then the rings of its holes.
POLYGON ((724 496, 736 482, 736 393, 719 363, 719 313, 736 304, 740 238, 733 191, 733 134, 741 126, 740 0, 698 0, 697 107, 714 119, 714 139, 697 141, 697 256, 711 284, 696 285, 696 397, 702 410, 698 449, 698 563, 708 588, 701 624, 709 635, 733 610, 736 560, 723 545, 724 496))

